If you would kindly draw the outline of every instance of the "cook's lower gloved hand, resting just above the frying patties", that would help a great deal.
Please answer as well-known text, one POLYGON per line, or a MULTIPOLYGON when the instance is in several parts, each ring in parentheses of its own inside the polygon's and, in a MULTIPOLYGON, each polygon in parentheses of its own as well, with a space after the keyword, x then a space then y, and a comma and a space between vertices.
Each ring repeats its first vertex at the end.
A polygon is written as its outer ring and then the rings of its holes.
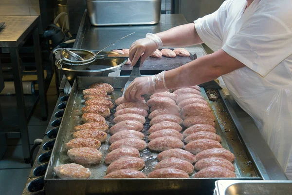
POLYGON ((158 75, 135 78, 126 89, 124 98, 129 101, 139 101, 144 99, 142 97, 144 94, 167 91, 168 89, 165 85, 164 73, 165 71, 158 75))

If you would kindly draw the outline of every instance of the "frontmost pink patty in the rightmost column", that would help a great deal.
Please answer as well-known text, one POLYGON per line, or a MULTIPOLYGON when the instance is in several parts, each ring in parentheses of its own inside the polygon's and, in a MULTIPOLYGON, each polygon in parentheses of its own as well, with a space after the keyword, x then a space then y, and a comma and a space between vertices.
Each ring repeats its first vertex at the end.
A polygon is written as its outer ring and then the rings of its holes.
POLYGON ((235 173, 229 169, 213 166, 202 169, 194 175, 196 178, 220 178, 220 177, 236 177, 235 173))

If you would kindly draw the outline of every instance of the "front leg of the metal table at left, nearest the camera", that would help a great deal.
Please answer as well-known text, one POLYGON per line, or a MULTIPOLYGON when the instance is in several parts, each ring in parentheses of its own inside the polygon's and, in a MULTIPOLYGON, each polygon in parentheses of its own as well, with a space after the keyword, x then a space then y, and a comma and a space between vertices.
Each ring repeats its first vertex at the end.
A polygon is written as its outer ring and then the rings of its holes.
MULTIPOLYGON (((26 109, 23 97, 23 88, 22 88, 22 75, 20 69, 20 61, 18 55, 18 48, 9 47, 11 64, 13 68, 13 77, 14 77, 14 87, 17 100, 17 110, 18 110, 18 120, 20 126, 20 135, 22 141, 22 151, 25 163, 30 162, 30 146, 29 146, 29 137, 28 137, 28 128, 27 128, 27 117, 26 109)), ((9 115, 9 113, 7 113, 9 115)), ((17 118, 16 118, 17 119, 17 118)))

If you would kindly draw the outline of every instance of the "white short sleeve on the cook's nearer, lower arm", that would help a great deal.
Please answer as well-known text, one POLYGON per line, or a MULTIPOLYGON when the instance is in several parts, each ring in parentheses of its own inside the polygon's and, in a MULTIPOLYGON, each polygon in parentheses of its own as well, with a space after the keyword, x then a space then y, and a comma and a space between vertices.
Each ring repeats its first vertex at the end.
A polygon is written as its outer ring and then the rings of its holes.
POLYGON ((284 21, 266 13, 255 13, 222 49, 265 77, 281 61, 292 55, 291 30, 291 21, 287 19, 284 21))

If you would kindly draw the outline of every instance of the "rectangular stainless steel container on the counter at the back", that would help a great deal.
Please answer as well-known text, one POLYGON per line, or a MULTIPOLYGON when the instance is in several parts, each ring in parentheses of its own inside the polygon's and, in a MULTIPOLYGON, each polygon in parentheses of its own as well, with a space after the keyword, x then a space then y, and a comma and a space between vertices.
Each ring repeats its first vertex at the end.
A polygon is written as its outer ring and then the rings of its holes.
POLYGON ((94 26, 156 24, 161 0, 86 0, 94 26))

